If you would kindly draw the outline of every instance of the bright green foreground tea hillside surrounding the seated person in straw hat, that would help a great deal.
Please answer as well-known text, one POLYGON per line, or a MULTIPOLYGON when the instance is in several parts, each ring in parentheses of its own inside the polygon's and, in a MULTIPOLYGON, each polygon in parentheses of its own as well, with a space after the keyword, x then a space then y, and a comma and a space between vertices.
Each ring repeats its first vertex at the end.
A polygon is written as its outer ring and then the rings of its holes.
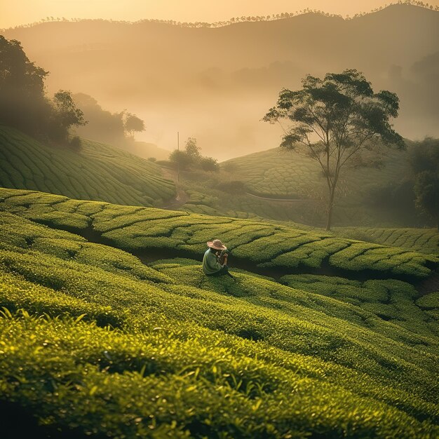
MULTIPOLYGON (((353 285, 351 296, 368 303, 393 301, 398 291, 401 307, 412 306, 398 323, 304 282, 292 288, 242 270, 234 270, 236 282, 206 278, 195 260, 206 236, 222 228, 232 255, 239 250, 251 257, 259 249, 265 261, 278 241, 296 240, 297 248, 314 243, 318 255, 323 248, 339 253, 335 264, 344 266, 356 258, 335 250, 335 243, 359 243, 332 238, 323 245, 329 238, 261 222, 215 222, 32 191, 3 189, 0 197, 0 420, 6 435, 439 434, 437 295, 420 297, 410 283, 391 278, 371 276, 353 285), (119 246, 142 250, 151 263, 119 246), (173 259, 156 260, 157 248, 173 259), (178 249, 195 259, 175 259, 178 249)), ((386 273, 413 279, 439 262, 386 246, 371 250, 368 264, 386 253, 386 273), (410 262, 393 265, 395 258, 410 262)), ((383 273, 379 266, 372 273, 383 273)), ((344 295, 353 282, 332 281, 344 285, 344 295)))

